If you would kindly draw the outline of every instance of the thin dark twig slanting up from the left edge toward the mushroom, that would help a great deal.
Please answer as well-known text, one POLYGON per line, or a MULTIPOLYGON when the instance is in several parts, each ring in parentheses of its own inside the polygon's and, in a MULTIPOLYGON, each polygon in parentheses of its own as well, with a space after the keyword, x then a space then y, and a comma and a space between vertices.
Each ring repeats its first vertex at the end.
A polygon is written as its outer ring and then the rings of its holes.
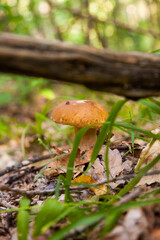
POLYGON ((3 169, 2 171, 0 171, 0 177, 5 175, 6 173, 9 173, 9 172, 12 172, 14 170, 20 169, 22 167, 28 166, 31 163, 36 163, 36 162, 39 162, 41 160, 50 159, 50 158, 55 157, 55 156, 56 156, 56 154, 53 153, 53 154, 47 154, 47 155, 43 155, 43 156, 38 156, 38 157, 33 157, 33 158, 30 158, 30 159, 26 159, 19 164, 15 164, 11 167, 7 167, 7 168, 3 169))

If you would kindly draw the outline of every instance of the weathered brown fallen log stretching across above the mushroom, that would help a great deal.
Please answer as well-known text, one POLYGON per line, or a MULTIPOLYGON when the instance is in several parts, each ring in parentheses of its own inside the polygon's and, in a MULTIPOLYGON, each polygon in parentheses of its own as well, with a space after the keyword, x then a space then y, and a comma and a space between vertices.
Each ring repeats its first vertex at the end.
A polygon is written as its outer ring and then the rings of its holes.
POLYGON ((79 83, 132 99, 160 95, 160 55, 0 34, 0 71, 79 83))

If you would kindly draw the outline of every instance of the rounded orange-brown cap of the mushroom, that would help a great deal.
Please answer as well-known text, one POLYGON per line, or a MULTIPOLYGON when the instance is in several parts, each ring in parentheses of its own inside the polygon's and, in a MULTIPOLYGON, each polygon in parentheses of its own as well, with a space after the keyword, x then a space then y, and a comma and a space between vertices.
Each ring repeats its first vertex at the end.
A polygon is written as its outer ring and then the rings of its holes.
MULTIPOLYGON (((106 121, 108 113, 100 104, 89 100, 69 100, 54 108, 52 120, 78 128, 106 121)), ((98 126, 95 126, 98 127, 98 126)))

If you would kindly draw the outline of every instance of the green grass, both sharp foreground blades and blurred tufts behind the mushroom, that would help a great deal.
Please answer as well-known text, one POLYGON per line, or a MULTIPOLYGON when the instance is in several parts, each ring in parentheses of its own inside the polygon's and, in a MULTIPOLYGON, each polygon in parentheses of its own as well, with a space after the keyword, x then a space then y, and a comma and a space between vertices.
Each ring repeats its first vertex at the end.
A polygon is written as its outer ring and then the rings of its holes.
MULTIPOLYGON (((39 91, 41 91, 41 89, 39 91)), ((85 91, 86 90, 84 90, 84 92, 85 91)), ((51 92, 49 92, 49 94, 51 96, 51 92)), ((84 96, 85 93, 83 97, 84 96)), ((75 98, 75 96, 72 95, 71 98, 75 98)), ((94 95, 94 99, 92 100, 99 101, 96 94, 94 95)), ((105 95, 103 99, 102 96, 100 97, 100 101, 102 101, 103 104, 106 106, 110 105, 109 108, 112 110, 110 111, 108 120, 104 123, 99 133, 97 142, 91 156, 90 164, 86 169, 85 173, 87 173, 90 166, 94 163, 107 135, 108 142, 105 153, 105 166, 107 179, 109 179, 108 149, 110 145, 109 139, 112 136, 112 131, 120 131, 123 132, 125 136, 130 136, 132 146, 134 146, 134 140, 137 138, 140 138, 146 142, 160 140, 159 134, 154 134, 148 129, 142 128, 142 126, 146 123, 150 124, 150 127, 152 128, 155 126, 157 127, 160 114, 160 101, 158 99, 143 99, 136 103, 136 107, 135 103, 132 103, 131 101, 127 102, 126 100, 122 99, 119 101, 110 101, 109 97, 107 99, 105 95), (127 114, 126 111, 128 111, 127 114)), ((68 137, 64 129, 53 123, 48 116, 48 112, 53 108, 54 104, 56 104, 56 101, 46 101, 41 111, 35 114, 35 121, 29 123, 29 125, 28 123, 23 124, 21 134, 17 134, 16 139, 21 138, 21 149, 24 157, 27 155, 27 151, 25 149, 25 138, 27 138, 27 136, 31 134, 36 134, 36 138, 41 139, 39 144, 41 144, 44 149, 47 149, 47 151, 50 151, 49 143, 51 142, 51 140, 45 138, 43 128, 43 124, 46 122, 50 125, 51 128, 54 128, 55 133, 59 135, 59 139, 61 140, 61 142, 59 143, 61 143, 61 145, 63 145, 63 141, 65 141, 67 144, 72 145, 71 138, 68 137)), ((8 121, 9 119, 3 119, 3 121, 0 122, 2 126, 2 128, 0 128, 0 135, 3 139, 5 137, 5 131, 8 131, 8 133, 10 134, 10 138, 15 137, 14 133, 12 132, 12 127, 8 124, 8 121)), ((83 229, 83 234, 85 235, 88 231, 96 227, 101 220, 104 220, 104 226, 101 233, 101 236, 103 236, 114 228, 118 219, 128 209, 160 203, 160 199, 157 197, 157 193, 159 193, 159 191, 151 191, 150 194, 144 194, 143 197, 139 197, 134 201, 129 201, 126 204, 120 204, 119 206, 117 206, 117 204, 119 203, 119 199, 121 199, 125 194, 132 191, 137 185, 137 183, 140 181, 140 179, 143 177, 143 175, 159 161, 160 155, 153 159, 153 161, 147 166, 140 169, 134 179, 129 181, 129 183, 125 185, 123 189, 119 190, 117 194, 103 195, 103 200, 101 201, 99 201, 97 197, 96 201, 94 198, 91 198, 85 201, 74 202, 74 199, 72 198, 69 191, 69 186, 71 185, 73 166, 78 145, 81 137, 88 130, 88 128, 90 128, 90 126, 81 129, 74 139, 66 177, 64 178, 63 176, 59 176, 57 179, 55 199, 46 200, 41 207, 30 206, 28 200, 24 199, 20 202, 20 207, 18 209, 7 210, 7 212, 18 212, 17 229, 19 239, 27 239, 29 231, 29 221, 31 218, 34 221, 34 237, 43 234, 47 231, 48 228, 50 228, 50 226, 52 226, 53 224, 56 225, 56 223, 58 223, 59 221, 65 221, 66 225, 63 228, 54 232, 53 236, 51 236, 49 239, 63 239, 67 234, 71 234, 71 232, 72 234, 74 234, 76 229, 80 228, 83 229), (64 203, 58 201, 61 186, 65 188, 64 203), (155 196, 148 199, 148 196, 150 196, 151 194, 155 196), (23 226, 21 224, 22 222, 24 223, 23 226)), ((44 169, 42 169, 42 171, 43 170, 44 169)), ((39 172, 35 180, 41 177, 42 171, 39 172)))

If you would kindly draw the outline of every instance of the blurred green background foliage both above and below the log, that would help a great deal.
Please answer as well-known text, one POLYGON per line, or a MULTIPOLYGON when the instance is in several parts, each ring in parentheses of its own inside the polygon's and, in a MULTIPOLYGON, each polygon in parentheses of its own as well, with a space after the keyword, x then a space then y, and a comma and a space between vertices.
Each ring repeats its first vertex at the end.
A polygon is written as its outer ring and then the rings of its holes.
MULTIPOLYGON (((99 49, 152 52, 160 48, 159 9, 159 0, 1 0, 0 31, 99 49)), ((0 143, 19 140, 36 112, 49 100, 66 95, 98 100, 109 110, 118 98, 83 86, 0 74, 0 143)), ((131 101, 121 111, 129 121, 138 114, 155 117, 147 107, 139 104, 136 108, 131 101)), ((36 120, 37 126, 41 128, 42 122, 36 120)), ((32 126, 38 134, 36 129, 32 126)), ((61 136, 58 139, 63 140, 61 136)))

